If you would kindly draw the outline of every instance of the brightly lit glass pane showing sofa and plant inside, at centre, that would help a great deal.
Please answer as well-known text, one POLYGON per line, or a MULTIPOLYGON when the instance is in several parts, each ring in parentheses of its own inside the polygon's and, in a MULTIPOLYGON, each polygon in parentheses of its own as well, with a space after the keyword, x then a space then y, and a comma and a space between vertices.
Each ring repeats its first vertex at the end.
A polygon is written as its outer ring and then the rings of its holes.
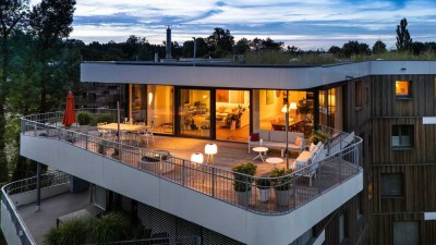
POLYGON ((250 135, 250 90, 216 90, 216 138, 246 142, 250 135))

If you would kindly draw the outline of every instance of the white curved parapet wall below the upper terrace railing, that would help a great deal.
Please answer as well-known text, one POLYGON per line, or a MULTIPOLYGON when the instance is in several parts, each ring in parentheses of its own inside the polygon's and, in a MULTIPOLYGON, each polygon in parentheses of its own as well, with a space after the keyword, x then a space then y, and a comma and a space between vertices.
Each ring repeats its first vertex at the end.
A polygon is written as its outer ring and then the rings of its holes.
POLYGON ((69 143, 21 136, 21 155, 246 244, 289 244, 363 188, 362 172, 283 216, 262 216, 69 143))

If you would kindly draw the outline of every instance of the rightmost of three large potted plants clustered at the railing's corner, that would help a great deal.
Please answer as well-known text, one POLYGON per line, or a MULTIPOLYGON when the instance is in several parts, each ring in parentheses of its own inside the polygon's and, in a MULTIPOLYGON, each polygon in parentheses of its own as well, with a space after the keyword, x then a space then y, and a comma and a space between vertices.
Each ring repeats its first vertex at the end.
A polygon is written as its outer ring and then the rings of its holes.
POLYGON ((286 207, 289 205, 290 196, 292 194, 291 173, 292 170, 286 168, 274 168, 271 170, 274 191, 276 193, 278 206, 286 207))

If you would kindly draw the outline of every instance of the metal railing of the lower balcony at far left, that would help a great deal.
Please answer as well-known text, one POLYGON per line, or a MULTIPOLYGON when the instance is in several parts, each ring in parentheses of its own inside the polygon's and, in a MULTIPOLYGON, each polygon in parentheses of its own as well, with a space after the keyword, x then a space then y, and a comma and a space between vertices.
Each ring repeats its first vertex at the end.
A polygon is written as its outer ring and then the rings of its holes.
MULTIPOLYGON (((23 245, 35 245, 35 241, 31 235, 26 224, 21 218, 16 207, 11 199, 10 195, 21 194, 36 189, 36 176, 11 182, 1 188, 1 201, 7 208, 11 221, 15 226, 17 237, 23 245)), ((66 173, 55 171, 41 175, 41 187, 56 186, 70 182, 70 177, 66 173)))

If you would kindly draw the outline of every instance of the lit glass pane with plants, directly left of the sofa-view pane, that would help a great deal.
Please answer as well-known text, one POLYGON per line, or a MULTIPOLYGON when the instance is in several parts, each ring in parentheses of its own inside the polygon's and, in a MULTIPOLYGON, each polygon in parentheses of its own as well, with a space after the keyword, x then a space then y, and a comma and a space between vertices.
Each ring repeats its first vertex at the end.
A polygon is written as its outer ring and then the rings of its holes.
POLYGON ((210 91, 180 89, 180 134, 210 137, 210 91))

